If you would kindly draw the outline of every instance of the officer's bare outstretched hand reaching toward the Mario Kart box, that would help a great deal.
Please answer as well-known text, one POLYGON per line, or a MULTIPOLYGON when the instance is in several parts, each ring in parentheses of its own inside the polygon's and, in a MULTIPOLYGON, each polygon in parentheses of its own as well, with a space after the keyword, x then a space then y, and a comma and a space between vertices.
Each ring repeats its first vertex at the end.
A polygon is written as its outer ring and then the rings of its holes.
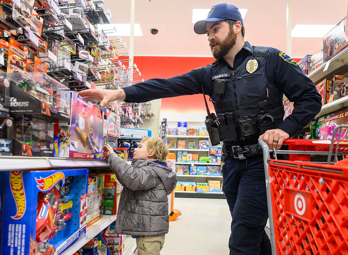
POLYGON ((126 93, 123 89, 86 89, 79 92, 79 95, 85 99, 94 99, 100 102, 100 107, 104 107, 107 103, 115 100, 124 100, 126 93))

